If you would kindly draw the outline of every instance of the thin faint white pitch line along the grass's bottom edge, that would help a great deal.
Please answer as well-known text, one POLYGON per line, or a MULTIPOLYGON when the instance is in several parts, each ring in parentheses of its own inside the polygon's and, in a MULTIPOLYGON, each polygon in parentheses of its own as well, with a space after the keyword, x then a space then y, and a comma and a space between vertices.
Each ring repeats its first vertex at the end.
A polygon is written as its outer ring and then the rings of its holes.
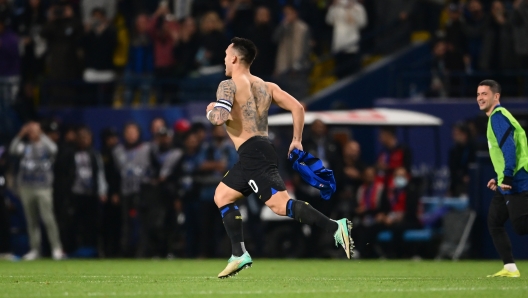
POLYGON ((99 296, 203 296, 203 295, 281 295, 281 294, 317 294, 317 293, 428 293, 428 292, 464 292, 464 291, 512 291, 528 290, 525 287, 434 287, 434 288, 401 288, 401 289, 334 289, 334 290, 291 290, 281 291, 195 291, 195 292, 87 292, 62 294, 30 294, 30 295, 1 295, 0 297, 57 297, 57 296, 77 296, 77 297, 99 297, 99 296))

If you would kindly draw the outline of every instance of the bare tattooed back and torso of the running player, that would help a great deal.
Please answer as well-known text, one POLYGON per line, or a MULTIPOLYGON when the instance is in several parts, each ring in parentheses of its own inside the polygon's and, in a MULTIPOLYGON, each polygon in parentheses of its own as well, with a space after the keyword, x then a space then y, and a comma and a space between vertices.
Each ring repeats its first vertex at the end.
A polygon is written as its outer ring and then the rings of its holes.
POLYGON ((234 93, 233 108, 226 128, 237 150, 253 136, 267 136, 268 111, 273 99, 268 84, 259 77, 242 75, 221 85, 217 98, 223 96, 219 93, 234 93))

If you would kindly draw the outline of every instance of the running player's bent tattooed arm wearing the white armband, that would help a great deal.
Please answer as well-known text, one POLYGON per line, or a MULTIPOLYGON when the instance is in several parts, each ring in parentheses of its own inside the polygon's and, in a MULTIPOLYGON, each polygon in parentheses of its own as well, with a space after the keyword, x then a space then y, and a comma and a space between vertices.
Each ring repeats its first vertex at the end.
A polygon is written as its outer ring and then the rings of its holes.
POLYGON ((207 106, 207 119, 213 125, 222 125, 229 120, 235 92, 236 86, 233 80, 225 80, 218 85, 216 102, 212 102, 207 106))

